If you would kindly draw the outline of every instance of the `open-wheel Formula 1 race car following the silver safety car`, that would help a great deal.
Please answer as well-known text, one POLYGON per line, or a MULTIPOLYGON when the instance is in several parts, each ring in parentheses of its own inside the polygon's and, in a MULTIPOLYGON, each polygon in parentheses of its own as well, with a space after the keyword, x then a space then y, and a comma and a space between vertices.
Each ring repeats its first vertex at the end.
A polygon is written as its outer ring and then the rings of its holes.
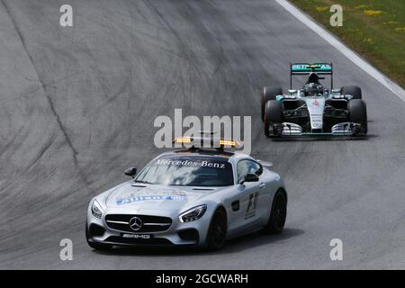
POLYGON ((266 86, 261 114, 267 137, 364 136, 367 111, 362 90, 356 85, 333 89, 332 63, 291 63, 290 90, 266 86), (301 89, 293 90, 293 75, 309 75, 301 89), (320 84, 330 75, 330 89, 320 84))

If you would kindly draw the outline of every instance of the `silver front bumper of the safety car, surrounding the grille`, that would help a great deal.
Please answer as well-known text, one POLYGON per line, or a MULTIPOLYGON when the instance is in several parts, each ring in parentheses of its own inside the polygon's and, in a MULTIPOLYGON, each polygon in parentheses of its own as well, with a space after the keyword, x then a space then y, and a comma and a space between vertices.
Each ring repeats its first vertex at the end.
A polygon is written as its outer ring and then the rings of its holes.
POLYGON ((141 213, 107 211, 102 219, 98 219, 89 210, 86 227, 87 241, 117 246, 203 246, 211 220, 209 211, 206 211, 201 219, 185 223, 180 222, 177 216, 169 211, 142 211, 141 213), (112 225, 108 225, 105 220, 105 216, 112 213, 133 217, 168 217, 172 223, 167 229, 161 231, 137 232, 130 229, 112 229, 112 225))

